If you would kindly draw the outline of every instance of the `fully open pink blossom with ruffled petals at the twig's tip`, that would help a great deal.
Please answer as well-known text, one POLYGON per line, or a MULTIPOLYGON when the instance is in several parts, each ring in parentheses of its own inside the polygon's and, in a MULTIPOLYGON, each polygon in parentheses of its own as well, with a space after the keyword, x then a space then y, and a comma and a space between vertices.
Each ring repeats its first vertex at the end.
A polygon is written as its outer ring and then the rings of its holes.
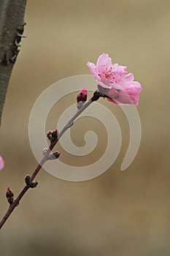
POLYGON ((112 64, 107 53, 98 57, 97 64, 88 61, 90 72, 98 82, 98 89, 107 99, 117 105, 139 103, 142 87, 134 81, 134 75, 127 72, 127 67, 112 64))

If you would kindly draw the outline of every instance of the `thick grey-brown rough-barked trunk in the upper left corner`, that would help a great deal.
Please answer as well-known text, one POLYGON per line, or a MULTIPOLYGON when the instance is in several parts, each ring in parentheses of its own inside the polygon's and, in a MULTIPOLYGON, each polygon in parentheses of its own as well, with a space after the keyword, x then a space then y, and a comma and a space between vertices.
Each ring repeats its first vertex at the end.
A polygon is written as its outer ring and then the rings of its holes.
POLYGON ((23 34, 26 0, 0 1, 0 125, 7 87, 23 34))

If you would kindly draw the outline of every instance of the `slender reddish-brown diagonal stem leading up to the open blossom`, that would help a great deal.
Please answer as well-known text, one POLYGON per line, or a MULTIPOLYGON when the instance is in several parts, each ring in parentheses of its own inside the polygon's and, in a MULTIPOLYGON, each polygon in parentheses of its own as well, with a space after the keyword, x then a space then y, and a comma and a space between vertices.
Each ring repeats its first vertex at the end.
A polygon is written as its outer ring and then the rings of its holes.
MULTIPOLYGON (((50 151, 52 151, 52 149, 55 147, 55 145, 58 143, 58 140, 61 138, 61 136, 64 134, 64 132, 66 132, 67 129, 69 129, 70 127, 72 127, 73 121, 80 116, 80 114, 86 109, 88 108, 88 106, 97 99, 94 99, 94 96, 88 100, 88 102, 85 102, 85 104, 82 106, 82 108, 80 108, 80 110, 77 110, 77 112, 74 114, 74 116, 66 123, 66 125, 63 127, 63 129, 61 130, 61 132, 58 134, 58 138, 53 142, 50 143, 49 148, 47 149, 47 152, 45 153, 44 157, 42 157, 41 161, 39 162, 39 165, 37 165, 36 169, 34 170, 34 172, 31 174, 31 181, 34 180, 34 178, 36 177, 36 175, 39 173, 39 170, 42 168, 42 165, 44 165, 44 163, 47 161, 47 158, 50 154, 50 151)), ((4 223, 7 221, 7 219, 9 218, 10 214, 12 214, 12 211, 15 209, 16 206, 18 206, 20 200, 22 199, 23 195, 26 194, 27 190, 29 189, 28 186, 23 187, 23 189, 20 191, 18 197, 14 200, 14 202, 12 203, 12 205, 9 206, 6 214, 4 215, 4 217, 1 219, 0 222, 0 229, 1 227, 4 225, 4 223)))

